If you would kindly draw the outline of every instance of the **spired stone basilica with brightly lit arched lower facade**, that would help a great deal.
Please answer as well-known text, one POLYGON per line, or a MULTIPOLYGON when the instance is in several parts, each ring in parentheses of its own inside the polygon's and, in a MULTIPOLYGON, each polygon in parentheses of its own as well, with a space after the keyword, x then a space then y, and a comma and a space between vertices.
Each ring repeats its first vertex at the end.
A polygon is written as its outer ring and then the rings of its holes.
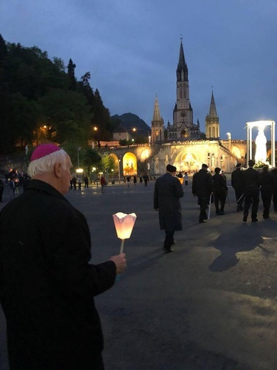
POLYGON ((176 69, 176 102, 173 108, 173 122, 165 128, 156 96, 151 122, 151 145, 155 149, 148 158, 148 167, 153 174, 163 174, 166 164, 177 167, 178 171, 197 171, 202 163, 210 170, 220 167, 233 171, 237 162, 246 164, 246 141, 220 139, 220 122, 214 101, 210 100, 210 110, 205 119, 205 132, 200 132, 200 122, 193 121, 190 102, 188 65, 185 61, 182 39, 176 69))

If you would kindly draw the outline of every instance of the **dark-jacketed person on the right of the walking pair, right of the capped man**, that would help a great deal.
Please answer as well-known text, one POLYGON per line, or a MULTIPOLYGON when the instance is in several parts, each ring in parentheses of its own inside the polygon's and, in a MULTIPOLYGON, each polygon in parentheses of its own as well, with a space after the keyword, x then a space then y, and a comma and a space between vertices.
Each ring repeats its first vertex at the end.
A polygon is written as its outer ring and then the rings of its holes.
POLYGON ((212 192, 214 194, 215 213, 217 215, 224 215, 224 206, 227 198, 228 188, 226 177, 220 174, 221 169, 216 167, 214 169, 214 176, 212 176, 212 192), (220 203, 220 209, 219 209, 220 203))

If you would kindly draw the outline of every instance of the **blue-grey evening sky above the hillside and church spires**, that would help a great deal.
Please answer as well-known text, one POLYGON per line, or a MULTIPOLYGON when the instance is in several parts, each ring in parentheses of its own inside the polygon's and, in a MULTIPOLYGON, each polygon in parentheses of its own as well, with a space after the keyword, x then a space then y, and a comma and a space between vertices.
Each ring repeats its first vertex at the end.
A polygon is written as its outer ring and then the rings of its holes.
POLYGON ((213 86, 221 139, 277 120, 276 19, 276 0, 0 1, 5 41, 65 65, 72 58, 112 115, 132 112, 149 126, 156 94, 165 125, 173 121, 182 35, 194 120, 205 132, 213 86))

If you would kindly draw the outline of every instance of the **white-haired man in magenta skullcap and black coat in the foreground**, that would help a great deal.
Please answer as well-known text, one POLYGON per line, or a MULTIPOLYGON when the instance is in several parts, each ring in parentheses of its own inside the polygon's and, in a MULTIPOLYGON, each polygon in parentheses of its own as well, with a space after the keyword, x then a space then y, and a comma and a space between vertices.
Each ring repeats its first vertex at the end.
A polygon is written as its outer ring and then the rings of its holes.
POLYGON ((11 370, 102 370, 103 336, 94 296, 114 285, 124 253, 89 264, 85 216, 63 194, 70 157, 41 144, 26 190, 0 213, 0 302, 11 370))

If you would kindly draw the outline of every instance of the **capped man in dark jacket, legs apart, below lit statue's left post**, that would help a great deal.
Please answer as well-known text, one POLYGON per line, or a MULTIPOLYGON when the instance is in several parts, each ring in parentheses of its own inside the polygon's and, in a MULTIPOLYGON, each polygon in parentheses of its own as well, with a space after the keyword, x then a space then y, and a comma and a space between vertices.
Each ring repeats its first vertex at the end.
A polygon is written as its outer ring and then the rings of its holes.
POLYGON ((249 168, 244 171, 244 222, 247 221, 251 204, 251 221, 258 221, 257 212, 259 207, 260 176, 259 172, 253 168, 254 164, 254 159, 249 159, 249 168))

